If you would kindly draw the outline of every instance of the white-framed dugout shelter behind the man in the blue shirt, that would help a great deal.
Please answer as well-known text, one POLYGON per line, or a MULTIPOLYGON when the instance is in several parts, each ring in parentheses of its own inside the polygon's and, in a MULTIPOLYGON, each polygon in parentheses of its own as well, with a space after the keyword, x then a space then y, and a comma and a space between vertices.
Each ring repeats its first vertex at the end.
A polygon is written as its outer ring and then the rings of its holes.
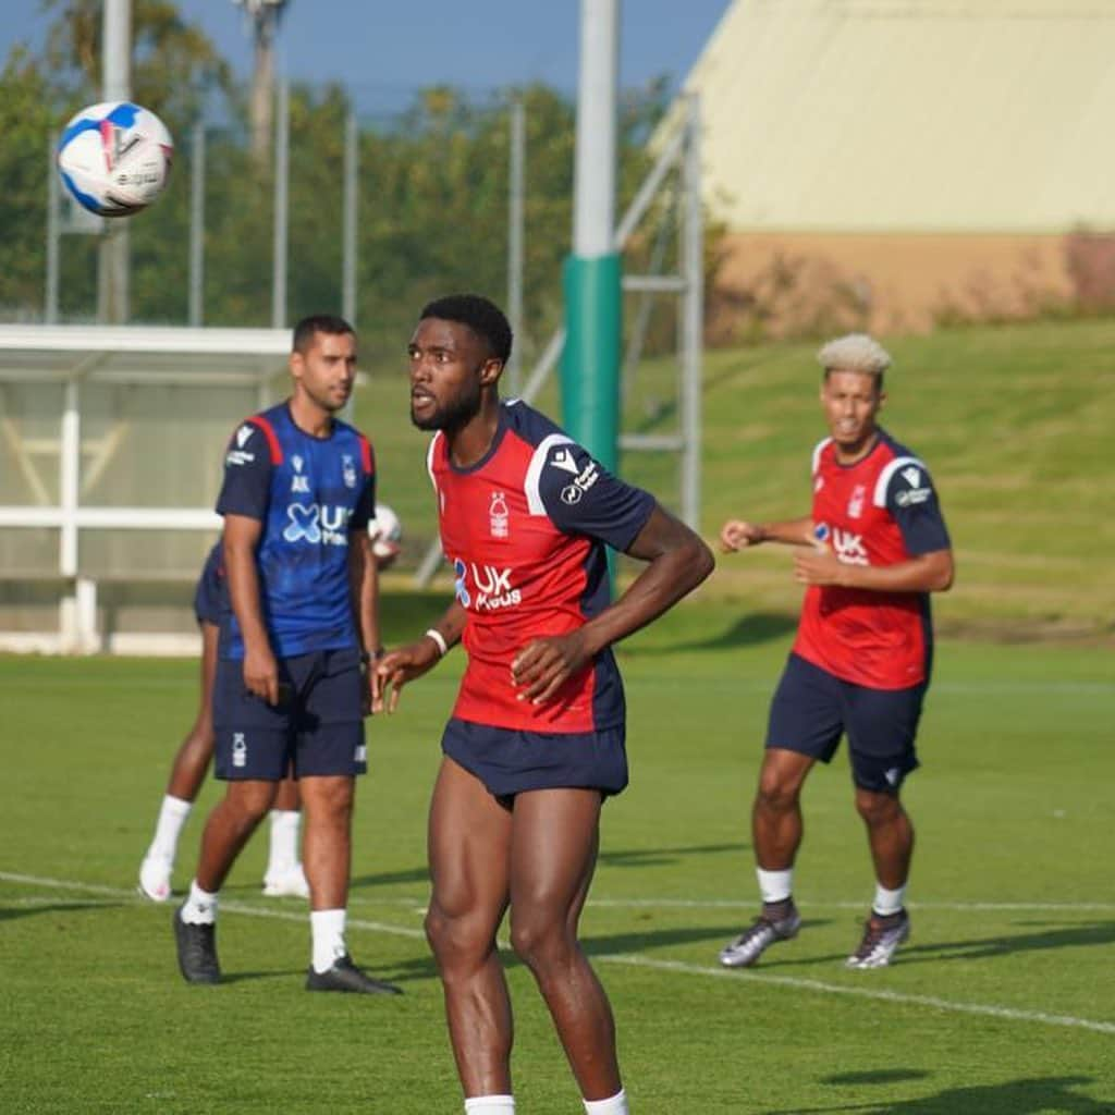
POLYGON ((289 329, 0 326, 0 651, 190 653, 223 450, 289 329))

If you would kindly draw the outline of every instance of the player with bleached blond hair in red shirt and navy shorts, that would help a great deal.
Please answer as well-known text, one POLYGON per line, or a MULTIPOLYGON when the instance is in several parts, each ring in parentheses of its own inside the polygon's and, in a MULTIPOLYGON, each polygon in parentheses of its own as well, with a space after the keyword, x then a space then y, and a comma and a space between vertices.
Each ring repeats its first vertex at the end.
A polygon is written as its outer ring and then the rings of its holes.
POLYGON ((882 968, 910 935, 903 899, 913 827, 899 791, 918 766, 914 737, 932 658, 929 594, 952 584, 952 550, 928 469, 876 423, 891 358, 862 333, 831 341, 817 358, 830 436, 813 454, 812 515, 729 520, 720 532, 728 552, 762 542, 799 546, 794 573, 806 585, 752 809, 763 912, 720 951, 728 968, 749 967, 797 933, 792 883, 802 785, 817 759, 832 759, 842 735, 876 878, 846 966, 882 968))

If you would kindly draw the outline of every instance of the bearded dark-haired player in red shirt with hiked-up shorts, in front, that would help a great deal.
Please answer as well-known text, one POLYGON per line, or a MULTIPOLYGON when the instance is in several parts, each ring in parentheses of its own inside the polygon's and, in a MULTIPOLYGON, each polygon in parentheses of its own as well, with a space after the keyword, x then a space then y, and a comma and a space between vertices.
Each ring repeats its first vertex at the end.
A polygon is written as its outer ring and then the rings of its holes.
POLYGON ((578 943, 605 796, 627 785, 623 689, 610 647, 711 571, 653 497, 611 476, 523 403, 502 403, 504 314, 472 294, 427 306, 409 346, 410 416, 456 600, 379 663, 399 690, 458 640, 468 653, 429 816, 426 933, 471 1115, 514 1112, 512 1017, 496 953, 533 972, 593 1115, 626 1115, 611 1008, 578 943), (610 603, 605 544, 649 562, 610 603))

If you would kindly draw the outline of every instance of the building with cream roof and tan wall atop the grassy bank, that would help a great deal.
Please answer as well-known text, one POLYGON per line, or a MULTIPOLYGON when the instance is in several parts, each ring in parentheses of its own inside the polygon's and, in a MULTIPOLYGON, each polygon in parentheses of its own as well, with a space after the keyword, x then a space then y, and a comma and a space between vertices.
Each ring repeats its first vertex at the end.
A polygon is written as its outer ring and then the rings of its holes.
POLYGON ((1115 3, 735 0, 685 81, 710 339, 1115 306, 1115 3))

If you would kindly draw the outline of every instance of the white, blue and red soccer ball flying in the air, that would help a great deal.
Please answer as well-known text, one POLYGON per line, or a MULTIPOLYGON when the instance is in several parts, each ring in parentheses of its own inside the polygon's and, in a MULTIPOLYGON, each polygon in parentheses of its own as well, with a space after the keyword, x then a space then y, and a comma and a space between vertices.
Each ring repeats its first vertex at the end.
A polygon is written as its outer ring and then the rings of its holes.
POLYGON ((89 105, 58 143, 58 172, 70 195, 98 216, 130 216, 163 192, 174 140, 149 109, 128 100, 89 105))

